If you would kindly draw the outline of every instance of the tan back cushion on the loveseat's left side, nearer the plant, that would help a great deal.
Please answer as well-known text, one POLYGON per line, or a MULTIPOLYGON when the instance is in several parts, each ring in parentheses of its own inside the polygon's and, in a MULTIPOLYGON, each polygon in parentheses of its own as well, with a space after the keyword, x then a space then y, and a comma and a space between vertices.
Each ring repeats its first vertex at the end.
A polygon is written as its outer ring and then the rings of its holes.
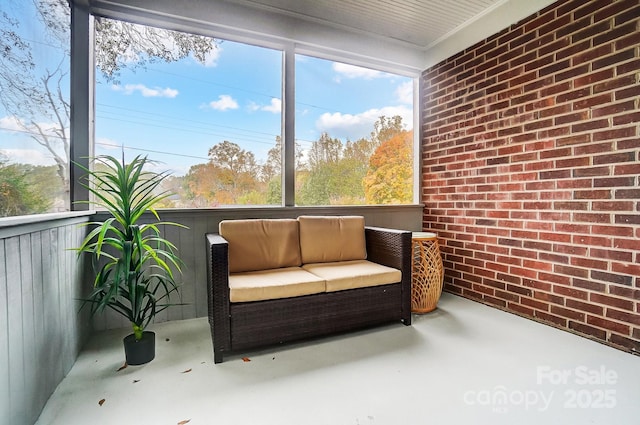
POLYGON ((223 220, 218 228, 229 242, 229 273, 301 265, 297 220, 223 220))

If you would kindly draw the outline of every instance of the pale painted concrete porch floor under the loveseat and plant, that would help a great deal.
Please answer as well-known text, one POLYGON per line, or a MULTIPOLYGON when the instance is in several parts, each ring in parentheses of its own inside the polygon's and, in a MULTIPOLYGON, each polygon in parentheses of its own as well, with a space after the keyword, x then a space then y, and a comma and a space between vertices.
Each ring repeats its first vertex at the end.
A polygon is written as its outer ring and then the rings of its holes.
POLYGON ((152 329, 156 359, 120 371, 127 331, 103 332, 37 423, 640 421, 638 356, 449 294, 436 311, 413 320, 410 327, 391 324, 229 356, 218 365, 206 318, 163 323, 152 329))

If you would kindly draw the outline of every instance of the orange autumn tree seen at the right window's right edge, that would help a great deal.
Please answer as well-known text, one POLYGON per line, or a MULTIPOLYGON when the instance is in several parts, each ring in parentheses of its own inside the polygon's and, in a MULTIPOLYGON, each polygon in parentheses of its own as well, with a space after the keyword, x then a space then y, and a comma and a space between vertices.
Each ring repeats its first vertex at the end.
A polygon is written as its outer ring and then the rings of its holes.
POLYGON ((364 178, 367 204, 407 204, 413 200, 413 133, 403 131, 383 142, 364 178))

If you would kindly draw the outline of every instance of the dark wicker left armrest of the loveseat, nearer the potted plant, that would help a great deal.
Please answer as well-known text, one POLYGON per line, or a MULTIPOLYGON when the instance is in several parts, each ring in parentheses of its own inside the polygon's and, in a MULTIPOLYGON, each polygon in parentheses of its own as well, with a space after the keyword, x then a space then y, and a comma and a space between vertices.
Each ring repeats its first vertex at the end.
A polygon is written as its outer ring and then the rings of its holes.
POLYGON ((217 233, 205 235, 207 243, 207 297, 215 363, 231 349, 229 321, 229 243, 217 233))

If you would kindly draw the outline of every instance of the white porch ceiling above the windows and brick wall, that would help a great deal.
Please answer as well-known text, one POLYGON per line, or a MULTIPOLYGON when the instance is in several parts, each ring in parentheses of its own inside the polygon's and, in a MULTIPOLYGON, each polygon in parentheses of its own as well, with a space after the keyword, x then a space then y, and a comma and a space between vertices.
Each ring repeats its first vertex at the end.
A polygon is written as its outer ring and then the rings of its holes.
POLYGON ((97 15, 419 75, 555 0, 72 0, 97 15))

